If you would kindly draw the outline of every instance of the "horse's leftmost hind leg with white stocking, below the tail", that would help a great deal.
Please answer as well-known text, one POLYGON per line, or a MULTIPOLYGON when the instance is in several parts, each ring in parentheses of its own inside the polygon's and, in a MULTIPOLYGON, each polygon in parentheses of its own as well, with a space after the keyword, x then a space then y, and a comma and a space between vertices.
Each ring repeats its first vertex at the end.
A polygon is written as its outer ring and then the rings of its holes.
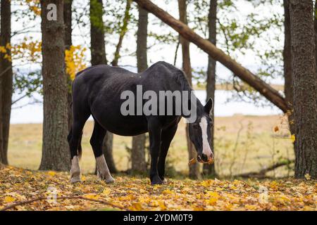
POLYGON ((70 169, 70 183, 80 182, 80 165, 79 165, 79 159, 78 159, 78 147, 79 147, 80 139, 82 136, 82 129, 88 117, 89 117, 89 113, 87 113, 87 115, 83 115, 80 118, 74 117, 72 128, 70 129, 70 133, 68 134, 70 160, 72 162, 72 166, 70 169))

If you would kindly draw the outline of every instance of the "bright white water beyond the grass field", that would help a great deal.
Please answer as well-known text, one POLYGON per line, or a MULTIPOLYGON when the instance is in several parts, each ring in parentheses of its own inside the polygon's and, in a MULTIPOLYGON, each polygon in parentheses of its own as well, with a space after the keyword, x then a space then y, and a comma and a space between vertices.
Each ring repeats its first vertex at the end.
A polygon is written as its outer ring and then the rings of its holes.
MULTIPOLYGON (((197 98, 201 103, 206 102, 206 91, 195 91, 197 98)), ((217 90, 215 95, 215 115, 216 116, 232 116, 234 114, 242 115, 277 115, 282 113, 276 106, 269 105, 257 107, 252 103, 229 101, 228 98, 232 95, 232 91, 217 90)), ((25 105, 29 99, 23 99, 19 105, 25 105)), ((90 118, 91 120, 92 118, 90 118)), ((43 122, 43 105, 34 104, 26 105, 23 108, 18 108, 18 105, 13 105, 11 112, 11 123, 42 123, 43 122)))

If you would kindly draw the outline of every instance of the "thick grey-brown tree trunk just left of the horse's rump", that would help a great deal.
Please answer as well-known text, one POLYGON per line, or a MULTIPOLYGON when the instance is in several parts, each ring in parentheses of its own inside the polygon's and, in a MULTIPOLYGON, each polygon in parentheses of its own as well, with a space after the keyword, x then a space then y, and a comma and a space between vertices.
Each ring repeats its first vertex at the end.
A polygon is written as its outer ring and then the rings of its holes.
POLYGON ((42 0, 41 8, 44 120, 42 161, 39 169, 69 171, 63 1, 42 0), (56 20, 48 19, 48 4, 56 5, 56 20))

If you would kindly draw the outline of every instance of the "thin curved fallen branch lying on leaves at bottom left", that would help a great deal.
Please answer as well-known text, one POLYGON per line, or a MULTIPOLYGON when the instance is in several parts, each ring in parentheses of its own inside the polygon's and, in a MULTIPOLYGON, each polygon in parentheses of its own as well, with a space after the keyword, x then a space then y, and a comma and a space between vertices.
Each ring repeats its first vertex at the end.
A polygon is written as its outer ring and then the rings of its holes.
MULTIPOLYGON (((129 211, 129 210, 125 209, 124 207, 121 207, 121 206, 118 206, 118 205, 114 205, 114 204, 109 203, 109 202, 104 201, 104 200, 97 200, 97 199, 85 198, 85 197, 82 197, 82 196, 62 196, 62 197, 57 197, 56 199, 80 199, 80 200, 87 200, 87 201, 91 201, 91 202, 95 202, 95 203, 102 203, 102 204, 104 204, 104 205, 110 205, 111 207, 115 207, 115 208, 118 208, 118 209, 120 209, 120 210, 129 211)), ((12 208, 14 208, 15 206, 18 206, 18 205, 25 205, 25 204, 34 203, 34 202, 41 201, 41 200, 47 200, 47 197, 33 198, 33 199, 30 199, 30 200, 25 200, 25 201, 20 201, 20 202, 17 202, 17 203, 13 203, 13 204, 11 204, 11 205, 8 205, 8 206, 6 206, 6 207, 3 207, 0 211, 10 210, 10 209, 12 209, 12 208)))

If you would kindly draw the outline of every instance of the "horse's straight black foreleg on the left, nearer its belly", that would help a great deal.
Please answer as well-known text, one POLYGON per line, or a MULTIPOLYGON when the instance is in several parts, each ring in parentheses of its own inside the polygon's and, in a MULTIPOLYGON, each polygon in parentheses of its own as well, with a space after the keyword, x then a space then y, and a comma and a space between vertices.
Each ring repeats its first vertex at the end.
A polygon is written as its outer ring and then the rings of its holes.
POLYGON ((151 169, 150 180, 151 184, 163 184, 163 181, 159 177, 157 169, 157 163, 159 160, 159 151, 161 145, 161 125, 156 118, 148 119, 149 128, 149 142, 150 142, 150 154, 151 154, 151 169))

